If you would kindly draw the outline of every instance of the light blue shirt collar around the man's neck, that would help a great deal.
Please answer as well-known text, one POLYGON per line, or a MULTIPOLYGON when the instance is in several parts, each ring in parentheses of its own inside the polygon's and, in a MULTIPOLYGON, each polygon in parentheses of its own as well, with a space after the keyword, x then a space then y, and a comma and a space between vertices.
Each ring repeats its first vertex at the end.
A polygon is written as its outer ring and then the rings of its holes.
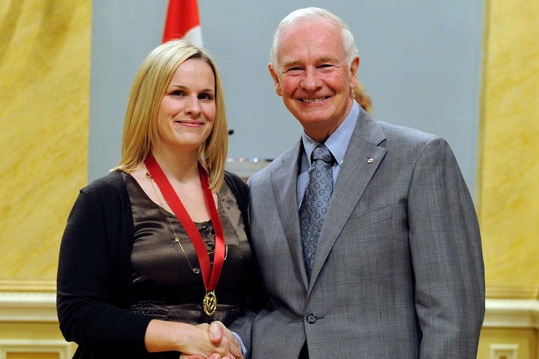
MULTIPOLYGON (((331 136, 325 142, 326 147, 331 152, 331 155, 335 157, 335 162, 340 167, 342 161, 345 159, 346 150, 348 148, 348 143, 350 143, 350 138, 352 138, 352 132, 356 127, 357 117, 359 116, 359 105, 354 101, 350 112, 346 116, 345 120, 340 124, 331 136)), ((314 148, 317 147, 320 143, 314 141, 312 138, 305 133, 305 130, 302 132, 302 142, 303 148, 305 149, 305 154, 311 165, 311 155, 314 148)))

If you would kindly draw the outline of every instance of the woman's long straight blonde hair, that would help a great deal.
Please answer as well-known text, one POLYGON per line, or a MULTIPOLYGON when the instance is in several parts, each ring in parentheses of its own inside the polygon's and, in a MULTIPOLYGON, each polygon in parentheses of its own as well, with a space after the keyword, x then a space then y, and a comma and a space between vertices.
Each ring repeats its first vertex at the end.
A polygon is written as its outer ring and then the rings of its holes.
POLYGON ((199 148, 199 161, 208 173, 210 188, 214 192, 221 188, 228 150, 228 129, 220 77, 208 53, 183 40, 168 41, 155 48, 135 74, 127 101, 121 160, 113 171, 131 173, 161 141, 157 131, 157 112, 161 100, 178 66, 191 58, 207 63, 215 77, 215 122, 206 142, 199 148))

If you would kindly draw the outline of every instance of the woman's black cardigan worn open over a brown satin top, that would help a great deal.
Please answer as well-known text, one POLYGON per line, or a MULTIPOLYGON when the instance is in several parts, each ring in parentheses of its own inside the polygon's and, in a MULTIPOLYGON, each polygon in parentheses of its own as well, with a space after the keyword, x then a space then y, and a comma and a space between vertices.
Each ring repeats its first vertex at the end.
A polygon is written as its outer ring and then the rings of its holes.
MULTIPOLYGON (((248 187, 229 172, 225 181, 251 241, 248 187)), ((119 171, 79 192, 62 237, 57 278, 60 330, 67 341, 79 344, 74 358, 128 358, 146 352, 152 318, 128 310, 133 237, 131 202, 119 171)))

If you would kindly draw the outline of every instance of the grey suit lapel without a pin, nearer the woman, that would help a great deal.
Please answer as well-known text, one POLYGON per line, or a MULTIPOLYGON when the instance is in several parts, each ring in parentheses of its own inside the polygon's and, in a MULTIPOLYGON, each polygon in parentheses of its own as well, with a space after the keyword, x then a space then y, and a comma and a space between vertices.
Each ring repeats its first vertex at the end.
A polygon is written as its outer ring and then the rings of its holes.
MULTIPOLYGON (((303 265, 303 251, 298 213, 298 169, 303 147, 301 141, 281 157, 277 171, 270 175, 274 200, 279 212, 279 219, 284 228, 284 235, 292 255, 295 270, 300 273, 305 288, 308 287, 307 270, 303 265)), ((271 223, 268 223, 271 226, 271 223)))

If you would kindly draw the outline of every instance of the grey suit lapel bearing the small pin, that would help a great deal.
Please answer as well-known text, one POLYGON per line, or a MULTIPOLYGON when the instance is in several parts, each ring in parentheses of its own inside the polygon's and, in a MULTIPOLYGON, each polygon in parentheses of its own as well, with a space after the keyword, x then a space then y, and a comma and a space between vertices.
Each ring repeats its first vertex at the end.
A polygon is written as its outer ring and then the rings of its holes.
POLYGON ((361 110, 320 233, 310 289, 316 282, 335 240, 387 152, 386 148, 378 146, 384 140, 385 135, 380 125, 361 110))

